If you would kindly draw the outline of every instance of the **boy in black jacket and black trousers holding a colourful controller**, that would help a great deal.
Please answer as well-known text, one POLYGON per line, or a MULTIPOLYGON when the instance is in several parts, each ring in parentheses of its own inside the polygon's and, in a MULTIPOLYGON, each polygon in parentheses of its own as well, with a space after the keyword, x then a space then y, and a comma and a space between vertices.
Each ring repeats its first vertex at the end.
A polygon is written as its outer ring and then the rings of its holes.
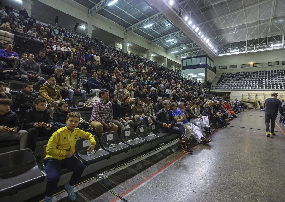
POLYGON ((24 128, 28 131, 28 148, 33 152, 36 148, 36 138, 38 134, 41 136, 51 136, 58 127, 54 125, 50 111, 46 109, 46 99, 38 97, 34 106, 28 109, 24 116, 24 128), (40 127, 38 122, 49 124, 46 127, 40 127))

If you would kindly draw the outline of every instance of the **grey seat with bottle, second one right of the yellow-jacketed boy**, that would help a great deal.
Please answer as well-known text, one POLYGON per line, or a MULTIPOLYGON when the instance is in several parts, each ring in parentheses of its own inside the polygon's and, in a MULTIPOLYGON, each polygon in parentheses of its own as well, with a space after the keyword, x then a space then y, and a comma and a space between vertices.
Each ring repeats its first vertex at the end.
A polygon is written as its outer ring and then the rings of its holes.
POLYGON ((103 133, 101 137, 101 147, 107 152, 111 153, 112 156, 122 152, 127 152, 129 149, 131 149, 131 146, 121 142, 117 131, 103 133), (110 144, 117 144, 117 146, 109 148, 110 144))

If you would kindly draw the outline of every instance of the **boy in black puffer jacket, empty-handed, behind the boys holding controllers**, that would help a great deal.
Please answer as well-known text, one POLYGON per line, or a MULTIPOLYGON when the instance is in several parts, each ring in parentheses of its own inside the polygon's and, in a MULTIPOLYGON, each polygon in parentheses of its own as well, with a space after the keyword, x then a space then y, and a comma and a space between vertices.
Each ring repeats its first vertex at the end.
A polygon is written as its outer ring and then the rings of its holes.
POLYGON ((25 115, 25 111, 34 106, 37 97, 38 93, 33 89, 33 84, 31 82, 24 83, 23 89, 16 95, 14 107, 20 109, 21 114, 25 115))

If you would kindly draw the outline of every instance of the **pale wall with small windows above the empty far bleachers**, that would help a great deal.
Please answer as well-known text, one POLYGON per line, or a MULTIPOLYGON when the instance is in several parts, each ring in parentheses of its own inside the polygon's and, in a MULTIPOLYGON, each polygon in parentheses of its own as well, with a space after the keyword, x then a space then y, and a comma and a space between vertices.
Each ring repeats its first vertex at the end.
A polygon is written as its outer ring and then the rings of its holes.
MULTIPOLYGON (((249 68, 241 68, 241 64, 251 64, 251 62, 253 63, 263 62, 263 66, 267 66, 268 62, 279 61, 279 66, 282 66, 282 61, 285 61, 285 50, 272 50, 266 52, 227 55, 220 57, 218 56, 217 58, 213 58, 213 60, 214 60, 214 66, 216 66, 217 73, 228 72, 228 71, 235 72, 238 69, 242 69, 242 71, 247 71, 249 68), (237 68, 229 69, 230 65, 237 65, 237 68), (227 66, 227 69, 219 70, 219 66, 227 66)), ((251 68, 253 67, 253 63, 251 64, 251 68)), ((258 71, 261 68, 262 67, 256 67, 257 70, 253 71, 258 71)))

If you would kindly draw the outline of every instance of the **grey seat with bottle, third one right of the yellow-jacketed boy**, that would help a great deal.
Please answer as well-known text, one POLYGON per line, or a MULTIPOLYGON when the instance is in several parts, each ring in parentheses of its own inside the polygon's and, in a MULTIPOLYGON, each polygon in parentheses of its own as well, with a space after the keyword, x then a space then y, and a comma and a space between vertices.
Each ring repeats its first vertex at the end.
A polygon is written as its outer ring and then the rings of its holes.
POLYGON ((145 140, 142 140, 136 136, 134 128, 125 128, 121 130, 121 141, 131 146, 131 148, 140 147, 146 143, 145 140), (127 140, 130 139, 132 139, 133 141, 131 143, 128 143, 127 140))

